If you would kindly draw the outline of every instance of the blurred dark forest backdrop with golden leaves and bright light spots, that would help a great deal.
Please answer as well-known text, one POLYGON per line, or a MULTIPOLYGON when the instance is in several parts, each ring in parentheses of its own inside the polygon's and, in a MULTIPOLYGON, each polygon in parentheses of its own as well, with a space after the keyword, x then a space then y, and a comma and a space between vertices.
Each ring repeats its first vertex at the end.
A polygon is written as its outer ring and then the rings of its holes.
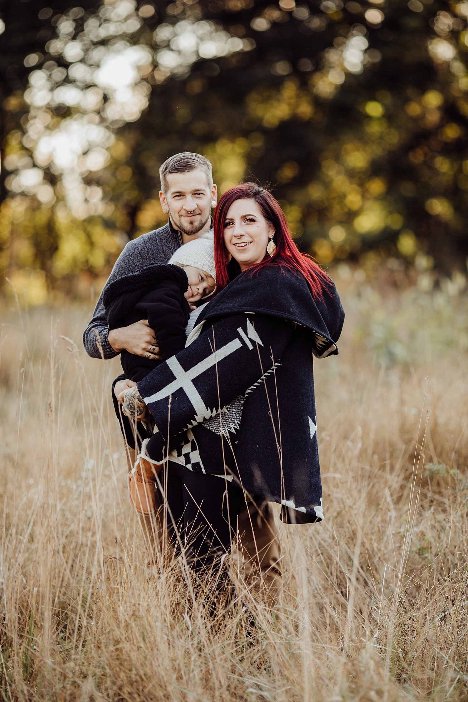
POLYGON ((126 241, 165 223, 158 169, 182 150, 221 192, 272 187, 325 267, 463 288, 467 2, 0 8, 6 293, 95 298, 126 241))

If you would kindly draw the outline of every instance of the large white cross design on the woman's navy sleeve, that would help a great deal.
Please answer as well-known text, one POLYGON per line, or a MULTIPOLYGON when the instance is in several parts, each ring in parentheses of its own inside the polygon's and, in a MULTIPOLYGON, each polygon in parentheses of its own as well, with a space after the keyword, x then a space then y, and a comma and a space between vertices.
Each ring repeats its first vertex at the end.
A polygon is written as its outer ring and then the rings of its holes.
POLYGON ((211 368, 211 366, 214 366, 218 362, 222 361, 222 359, 229 356, 229 354, 234 353, 234 351, 241 348, 241 346, 241 340, 239 338, 235 338, 233 341, 230 341, 229 344, 222 346, 220 349, 207 356, 206 359, 203 359, 203 361, 197 363, 196 366, 190 368, 188 371, 185 371, 182 368, 175 356, 171 357, 166 361, 166 363, 174 373, 175 380, 166 385, 166 388, 159 390, 159 392, 155 392, 154 395, 144 397, 143 400, 145 404, 157 402, 159 399, 169 397, 171 393, 182 388, 185 395, 187 395, 190 402, 192 402, 197 416, 203 418, 211 416, 211 412, 209 412, 206 408, 205 403, 203 402, 203 399, 201 399, 198 390, 196 390, 195 385, 192 383, 192 380, 198 376, 201 376, 201 373, 204 373, 208 370, 208 368, 211 368))

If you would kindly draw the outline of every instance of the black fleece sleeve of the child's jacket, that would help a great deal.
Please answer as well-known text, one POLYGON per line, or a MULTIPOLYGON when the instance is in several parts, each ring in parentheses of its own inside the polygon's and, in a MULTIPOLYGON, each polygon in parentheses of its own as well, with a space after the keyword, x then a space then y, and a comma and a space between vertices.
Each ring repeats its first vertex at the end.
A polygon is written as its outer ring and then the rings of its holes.
POLYGON ((180 299, 180 285, 175 280, 165 280, 142 300, 148 324, 158 340, 159 353, 165 360, 181 351, 187 341, 188 316, 180 306, 180 299))

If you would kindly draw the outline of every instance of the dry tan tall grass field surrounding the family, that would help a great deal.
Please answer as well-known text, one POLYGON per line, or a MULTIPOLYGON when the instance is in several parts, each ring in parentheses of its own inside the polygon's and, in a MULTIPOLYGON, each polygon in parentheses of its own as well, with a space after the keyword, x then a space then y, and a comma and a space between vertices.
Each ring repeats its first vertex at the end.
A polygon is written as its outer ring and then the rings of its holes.
POLYGON ((467 698, 468 305, 342 287, 341 355, 316 363, 326 518, 281 527, 284 616, 248 631, 146 567, 88 312, 4 315, 4 700, 467 698))

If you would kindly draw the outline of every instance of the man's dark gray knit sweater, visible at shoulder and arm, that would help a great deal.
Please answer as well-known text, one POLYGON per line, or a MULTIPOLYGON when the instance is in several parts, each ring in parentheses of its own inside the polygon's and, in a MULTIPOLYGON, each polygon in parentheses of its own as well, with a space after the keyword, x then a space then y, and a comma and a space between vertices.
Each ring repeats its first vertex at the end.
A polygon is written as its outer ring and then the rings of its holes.
POLYGON ((105 308, 102 304, 102 294, 107 289, 107 286, 122 275, 133 273, 144 265, 168 263, 168 260, 179 246, 182 246, 182 237, 178 230, 175 230, 171 225, 171 222, 168 222, 161 229, 156 229, 154 232, 149 232, 149 234, 142 234, 138 239, 128 241, 125 249, 117 258, 107 283, 100 294, 91 322, 83 332, 83 345, 89 356, 101 358, 98 337, 105 359, 118 355, 109 344, 109 339, 107 338, 109 324, 107 324, 105 308))

